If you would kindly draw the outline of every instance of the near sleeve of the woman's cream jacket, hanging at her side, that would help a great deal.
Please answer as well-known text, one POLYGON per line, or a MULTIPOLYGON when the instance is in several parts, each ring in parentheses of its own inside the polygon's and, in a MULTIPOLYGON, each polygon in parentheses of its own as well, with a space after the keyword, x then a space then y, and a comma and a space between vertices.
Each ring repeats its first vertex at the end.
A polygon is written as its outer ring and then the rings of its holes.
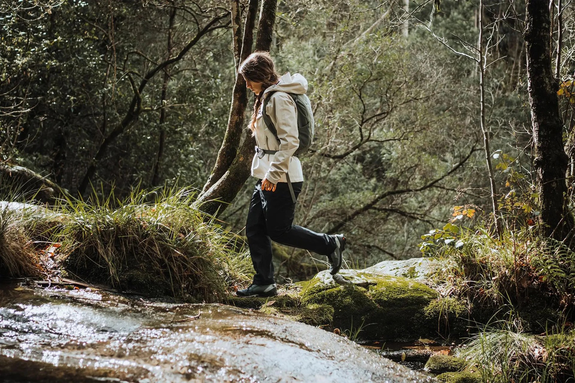
POLYGON ((279 138, 279 150, 274 154, 266 179, 277 184, 282 174, 287 173, 290 159, 300 146, 296 103, 289 94, 276 92, 271 95, 266 113, 274 123, 279 138))

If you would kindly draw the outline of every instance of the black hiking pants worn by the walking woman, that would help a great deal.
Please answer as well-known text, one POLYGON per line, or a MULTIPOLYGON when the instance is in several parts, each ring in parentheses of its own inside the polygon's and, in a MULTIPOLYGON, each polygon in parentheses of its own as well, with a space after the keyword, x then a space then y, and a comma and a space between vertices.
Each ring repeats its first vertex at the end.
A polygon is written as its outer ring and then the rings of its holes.
MULTIPOLYGON (((292 183, 294 194, 301 192, 302 182, 292 183)), ((292 225, 296 204, 285 182, 278 182, 275 191, 262 190, 262 180, 255 185, 246 223, 246 236, 255 269, 254 284, 274 283, 271 241, 298 247, 327 256, 335 250, 335 239, 305 227, 292 225)))

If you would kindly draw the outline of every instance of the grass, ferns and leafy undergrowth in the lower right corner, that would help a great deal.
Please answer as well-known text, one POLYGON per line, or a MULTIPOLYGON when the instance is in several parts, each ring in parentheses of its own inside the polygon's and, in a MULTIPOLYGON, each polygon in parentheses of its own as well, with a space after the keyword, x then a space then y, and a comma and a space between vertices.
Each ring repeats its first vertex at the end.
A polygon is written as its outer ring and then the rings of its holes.
POLYGON ((482 382, 573 382, 575 252, 542 235, 525 203, 502 198, 500 207, 507 212, 500 237, 489 216, 465 224, 476 218, 470 205, 455 206, 445 226, 421 236, 424 255, 446 261, 433 287, 465 301, 470 313, 495 313, 470 322, 454 354, 482 382))

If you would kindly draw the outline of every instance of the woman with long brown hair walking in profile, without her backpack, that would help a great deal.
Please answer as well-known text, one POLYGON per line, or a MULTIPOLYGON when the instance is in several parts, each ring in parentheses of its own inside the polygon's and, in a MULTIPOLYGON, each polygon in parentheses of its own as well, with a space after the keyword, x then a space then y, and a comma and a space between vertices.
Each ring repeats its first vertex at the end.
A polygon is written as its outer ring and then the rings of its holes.
POLYGON ((301 192, 304 176, 300 160, 294 156, 300 140, 297 107, 290 94, 305 94, 307 80, 299 73, 292 76, 287 72, 279 76, 267 52, 252 53, 241 63, 239 73, 256 95, 250 129, 258 146, 252 160, 251 175, 258 182, 246 223, 246 236, 256 273, 250 287, 238 290, 236 294, 241 297, 269 297, 277 295, 271 241, 327 256, 329 272, 336 274, 342 267, 346 238, 343 234, 320 234, 292 224, 295 201, 301 192), (264 103, 266 110, 263 110, 264 103), (267 117, 277 136, 266 125, 264 119, 267 117))

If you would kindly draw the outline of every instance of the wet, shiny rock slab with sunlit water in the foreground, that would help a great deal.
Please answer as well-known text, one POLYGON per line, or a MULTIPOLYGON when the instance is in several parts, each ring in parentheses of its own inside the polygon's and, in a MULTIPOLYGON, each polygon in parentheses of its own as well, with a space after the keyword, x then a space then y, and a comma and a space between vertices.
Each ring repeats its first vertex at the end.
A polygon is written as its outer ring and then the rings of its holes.
POLYGON ((217 304, 0 284, 9 381, 432 382, 340 336, 217 304))

